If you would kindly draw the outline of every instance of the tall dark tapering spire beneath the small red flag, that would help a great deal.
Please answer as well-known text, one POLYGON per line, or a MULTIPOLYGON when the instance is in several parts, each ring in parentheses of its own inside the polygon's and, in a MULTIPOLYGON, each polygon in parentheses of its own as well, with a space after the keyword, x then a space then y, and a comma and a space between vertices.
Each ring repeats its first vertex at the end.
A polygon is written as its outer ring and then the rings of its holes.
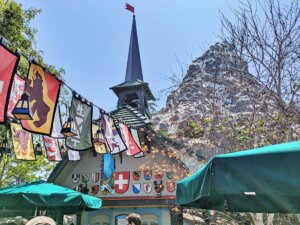
POLYGON ((133 15, 125 81, 136 80, 143 81, 143 72, 140 58, 139 41, 136 30, 135 15, 133 15))

